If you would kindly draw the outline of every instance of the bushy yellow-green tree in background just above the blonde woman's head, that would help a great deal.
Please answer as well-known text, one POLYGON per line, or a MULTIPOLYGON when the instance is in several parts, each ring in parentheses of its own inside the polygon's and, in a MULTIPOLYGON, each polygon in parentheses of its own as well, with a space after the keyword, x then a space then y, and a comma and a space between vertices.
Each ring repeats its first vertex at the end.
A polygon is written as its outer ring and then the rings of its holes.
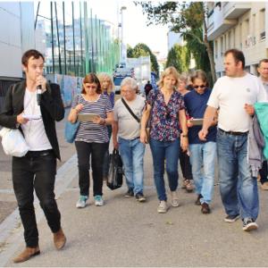
POLYGON ((178 44, 172 46, 167 56, 165 67, 173 66, 179 72, 188 71, 190 62, 190 53, 187 46, 180 46, 178 44))

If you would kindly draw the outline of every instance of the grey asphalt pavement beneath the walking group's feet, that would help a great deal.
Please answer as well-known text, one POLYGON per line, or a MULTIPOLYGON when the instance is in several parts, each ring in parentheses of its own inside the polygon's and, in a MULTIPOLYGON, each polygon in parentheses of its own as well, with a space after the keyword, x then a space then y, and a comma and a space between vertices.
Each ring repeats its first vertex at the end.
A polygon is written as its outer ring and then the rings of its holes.
POLYGON ((201 214, 200 206, 194 205, 196 195, 182 189, 179 191, 180 207, 170 208, 167 214, 157 214, 148 147, 145 167, 147 203, 124 198, 125 186, 114 191, 104 187, 105 206, 96 207, 90 196, 89 205, 77 209, 77 163, 76 155, 72 156, 59 169, 55 190, 67 236, 66 246, 62 251, 54 249, 52 234, 36 204, 41 255, 19 265, 12 263, 12 258, 24 247, 21 224, 17 223, 0 244, 0 266, 267 265, 268 192, 260 191, 259 229, 247 233, 242 230, 241 221, 223 222, 225 214, 218 186, 215 186, 212 214, 201 214))

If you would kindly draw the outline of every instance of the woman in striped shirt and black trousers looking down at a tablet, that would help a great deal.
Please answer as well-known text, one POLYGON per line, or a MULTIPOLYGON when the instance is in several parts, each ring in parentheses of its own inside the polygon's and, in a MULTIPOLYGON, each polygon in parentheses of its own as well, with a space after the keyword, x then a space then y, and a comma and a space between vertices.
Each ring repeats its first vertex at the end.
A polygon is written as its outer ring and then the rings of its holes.
POLYGON ((74 96, 68 120, 75 122, 78 114, 87 113, 85 121, 75 138, 75 147, 78 155, 80 199, 76 207, 86 206, 89 197, 89 158, 93 176, 93 196, 95 205, 104 205, 103 199, 103 162, 107 142, 109 140, 106 125, 113 122, 113 107, 108 96, 101 94, 101 84, 95 73, 89 73, 83 80, 81 94, 74 96), (92 114, 95 114, 92 118, 92 114), (96 116, 96 114, 98 114, 96 116), (88 120, 87 120, 88 117, 88 120))

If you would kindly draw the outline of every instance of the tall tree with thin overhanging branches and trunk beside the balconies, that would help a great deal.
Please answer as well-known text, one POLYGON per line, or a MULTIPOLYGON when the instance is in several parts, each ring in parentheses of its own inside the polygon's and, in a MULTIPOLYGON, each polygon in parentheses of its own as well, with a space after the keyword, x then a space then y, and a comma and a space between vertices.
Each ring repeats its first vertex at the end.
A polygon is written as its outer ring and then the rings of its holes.
POLYGON ((187 41, 188 48, 195 56, 197 63, 204 60, 204 52, 209 60, 212 79, 215 82, 215 64, 212 43, 207 39, 205 17, 207 11, 203 2, 135 2, 147 13, 148 24, 172 24, 172 30, 178 32, 187 41), (194 50, 192 50, 194 49, 194 50))

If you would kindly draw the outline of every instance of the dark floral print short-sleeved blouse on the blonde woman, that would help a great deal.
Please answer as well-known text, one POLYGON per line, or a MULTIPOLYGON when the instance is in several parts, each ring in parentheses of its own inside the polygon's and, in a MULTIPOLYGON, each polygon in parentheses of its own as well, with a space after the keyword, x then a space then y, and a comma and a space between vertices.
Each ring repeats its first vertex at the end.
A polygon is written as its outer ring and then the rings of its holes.
POLYGON ((166 105, 161 90, 151 90, 147 104, 152 107, 149 119, 150 138, 159 141, 173 141, 179 138, 179 111, 185 109, 183 96, 174 91, 166 105))

